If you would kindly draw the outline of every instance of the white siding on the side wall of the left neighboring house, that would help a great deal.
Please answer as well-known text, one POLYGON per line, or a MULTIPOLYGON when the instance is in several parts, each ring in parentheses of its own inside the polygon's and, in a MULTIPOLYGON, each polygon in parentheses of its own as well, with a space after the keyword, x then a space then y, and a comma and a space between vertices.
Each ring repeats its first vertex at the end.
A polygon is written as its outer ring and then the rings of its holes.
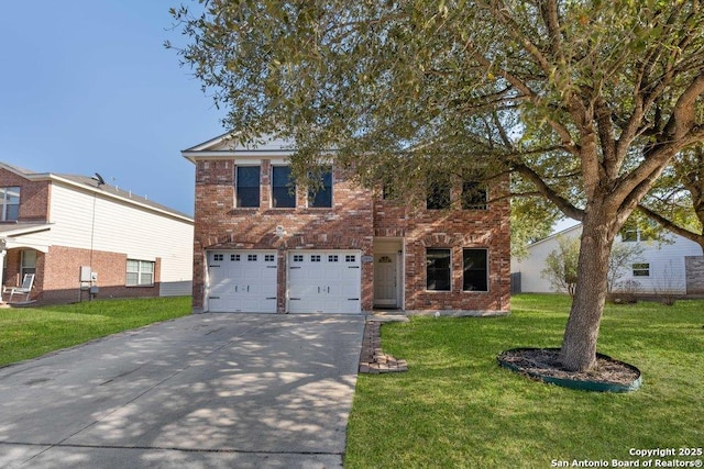
POLYGON ((50 222, 52 244, 141 260, 160 257, 163 293, 190 293, 191 223, 57 183, 52 185, 50 222))

